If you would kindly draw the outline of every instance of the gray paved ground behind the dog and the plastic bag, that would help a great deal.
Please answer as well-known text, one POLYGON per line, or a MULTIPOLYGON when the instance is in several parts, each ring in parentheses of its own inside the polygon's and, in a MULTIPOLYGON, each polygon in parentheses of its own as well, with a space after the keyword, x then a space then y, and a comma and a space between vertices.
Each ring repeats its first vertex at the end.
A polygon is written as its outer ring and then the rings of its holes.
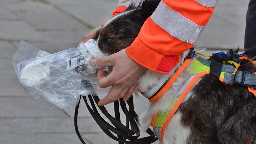
MULTIPOLYGON (((11 59, 19 41, 55 53, 77 47, 81 37, 107 20, 118 0, 0 0, 0 144, 80 144, 74 109, 62 110, 28 96, 14 74, 11 59)), ((243 47, 248 0, 222 0, 199 38, 206 53, 243 47)), ((141 114, 148 101, 135 98, 141 114)), ((112 111, 112 105, 107 105, 112 111)), ((88 144, 113 144, 81 104, 80 132, 88 144)))

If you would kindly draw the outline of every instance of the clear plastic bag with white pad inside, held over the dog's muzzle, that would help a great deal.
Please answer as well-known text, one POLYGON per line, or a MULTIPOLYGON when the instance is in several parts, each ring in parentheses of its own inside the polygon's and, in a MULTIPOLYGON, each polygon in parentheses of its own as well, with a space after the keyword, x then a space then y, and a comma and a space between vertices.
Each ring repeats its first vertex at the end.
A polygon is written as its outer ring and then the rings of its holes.
POLYGON ((95 40, 54 54, 21 41, 12 63, 28 93, 66 109, 75 107, 80 95, 103 95, 108 92, 108 88, 98 87, 96 72, 98 68, 107 72, 111 69, 90 65, 91 59, 103 56, 95 40))

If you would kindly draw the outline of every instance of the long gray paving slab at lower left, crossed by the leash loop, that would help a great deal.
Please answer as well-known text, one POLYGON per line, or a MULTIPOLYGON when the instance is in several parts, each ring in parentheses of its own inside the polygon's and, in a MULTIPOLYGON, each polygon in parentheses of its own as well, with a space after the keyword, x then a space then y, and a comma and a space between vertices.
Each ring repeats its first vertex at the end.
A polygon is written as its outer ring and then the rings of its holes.
MULTIPOLYGON (((79 118, 80 133, 101 133, 92 118, 79 118)), ((2 118, 0 133, 75 133, 74 118, 2 118)))

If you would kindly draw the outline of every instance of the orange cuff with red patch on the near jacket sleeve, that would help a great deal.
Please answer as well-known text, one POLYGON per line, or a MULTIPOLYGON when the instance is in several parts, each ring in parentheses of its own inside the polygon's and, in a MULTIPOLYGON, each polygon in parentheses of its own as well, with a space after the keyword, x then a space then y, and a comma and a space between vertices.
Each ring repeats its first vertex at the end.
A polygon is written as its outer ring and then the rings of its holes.
POLYGON ((143 67, 163 74, 168 74, 180 61, 178 55, 167 56, 151 49, 138 36, 132 45, 126 48, 126 54, 143 67))

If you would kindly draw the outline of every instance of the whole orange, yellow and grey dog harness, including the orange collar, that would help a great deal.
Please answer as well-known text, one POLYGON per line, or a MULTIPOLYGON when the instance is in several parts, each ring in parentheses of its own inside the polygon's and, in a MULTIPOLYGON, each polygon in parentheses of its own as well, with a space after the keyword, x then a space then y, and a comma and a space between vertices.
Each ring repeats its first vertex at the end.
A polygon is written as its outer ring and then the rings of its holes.
MULTIPOLYGON (((153 127, 153 130, 160 141, 163 140, 164 132, 168 123, 190 89, 199 78, 206 74, 212 73, 216 77, 219 77, 219 80, 225 84, 246 85, 248 86, 248 90, 256 96, 256 74, 247 74, 243 70, 237 70, 237 68, 240 66, 237 62, 240 63, 240 59, 249 60, 247 57, 234 57, 233 54, 235 53, 233 52, 231 52, 233 57, 229 58, 227 57, 228 54, 226 55, 223 52, 215 52, 211 57, 201 53, 197 54, 195 54, 195 52, 190 53, 189 58, 183 62, 181 67, 174 73, 172 77, 170 77, 167 81, 160 78, 155 86, 153 86, 147 93, 143 94, 150 102, 156 102, 191 63, 191 72, 187 80, 178 86, 176 93, 177 97, 170 101, 169 109, 157 112, 152 118, 151 126, 153 127), (209 59, 200 57, 197 54, 203 55, 209 59)), ((255 62, 253 62, 253 64, 256 66, 255 62)))

